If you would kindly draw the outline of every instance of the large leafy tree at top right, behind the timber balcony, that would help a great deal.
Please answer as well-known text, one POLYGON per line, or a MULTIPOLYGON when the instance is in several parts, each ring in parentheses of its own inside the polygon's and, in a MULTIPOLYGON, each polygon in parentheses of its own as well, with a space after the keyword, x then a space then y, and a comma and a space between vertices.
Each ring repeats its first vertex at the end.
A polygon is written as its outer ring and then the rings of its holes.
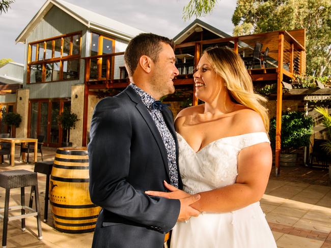
POLYGON ((329 0, 237 0, 234 35, 306 28, 307 73, 331 73, 329 0))

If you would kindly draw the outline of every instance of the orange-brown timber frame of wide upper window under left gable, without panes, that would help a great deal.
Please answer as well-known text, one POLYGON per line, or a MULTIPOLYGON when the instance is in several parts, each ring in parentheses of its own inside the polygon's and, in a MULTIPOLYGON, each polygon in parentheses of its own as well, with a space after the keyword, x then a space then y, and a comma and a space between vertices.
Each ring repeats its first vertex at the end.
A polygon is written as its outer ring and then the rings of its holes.
MULTIPOLYGON (((39 41, 34 41, 34 42, 30 42, 28 45, 28 53, 27 53, 27 75, 26 75, 26 83, 30 84, 30 77, 31 77, 31 66, 32 65, 42 65, 42 80, 41 82, 33 82, 31 84, 34 83, 49 83, 49 82, 57 82, 57 81, 68 81, 68 80, 79 80, 79 69, 78 69, 78 78, 77 79, 64 79, 63 78, 63 61, 64 60, 71 60, 71 59, 78 59, 78 65, 80 65, 80 53, 81 53, 81 32, 75 32, 75 33, 70 33, 70 34, 65 34, 62 36, 57 36, 57 37, 52 37, 49 39, 44 39, 44 40, 39 40, 39 41), (79 52, 78 54, 72 54, 72 50, 73 50, 73 37, 79 35, 79 52), (64 38, 70 37, 70 51, 69 54, 67 56, 63 56, 63 48, 64 48, 64 38), (55 41, 61 39, 61 55, 60 57, 56 57, 54 58, 54 54, 55 54, 55 41), (49 59, 45 59, 45 54, 46 54, 46 42, 52 42, 52 55, 51 58, 49 59), (43 60, 38 60, 37 58, 39 58, 39 44, 44 43, 44 55, 43 55, 43 60), (32 59, 32 47, 36 45, 36 60, 35 61, 31 61, 32 59), (46 82, 46 64, 49 63, 60 63, 60 75, 59 75, 59 80, 57 81, 48 81, 46 82)), ((78 66, 78 68, 80 68, 80 66, 78 66)))

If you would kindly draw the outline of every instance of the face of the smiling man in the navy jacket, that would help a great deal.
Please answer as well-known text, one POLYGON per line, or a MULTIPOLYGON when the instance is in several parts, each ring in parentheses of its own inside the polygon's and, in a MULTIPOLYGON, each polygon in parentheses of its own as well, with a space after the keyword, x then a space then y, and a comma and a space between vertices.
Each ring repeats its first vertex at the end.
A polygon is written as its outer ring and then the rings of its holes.
POLYGON ((161 42, 162 50, 152 70, 152 87, 159 98, 175 92, 173 79, 179 74, 175 66, 176 58, 172 47, 161 42))

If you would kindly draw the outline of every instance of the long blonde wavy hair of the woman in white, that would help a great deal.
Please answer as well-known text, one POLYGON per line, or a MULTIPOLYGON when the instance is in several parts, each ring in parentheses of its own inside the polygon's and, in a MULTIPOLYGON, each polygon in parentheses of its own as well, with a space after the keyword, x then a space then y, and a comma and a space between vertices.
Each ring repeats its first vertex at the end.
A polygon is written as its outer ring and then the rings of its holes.
POLYGON ((209 47, 204 54, 215 72, 224 80, 232 100, 256 111, 268 133, 268 110, 262 104, 266 103, 267 99, 254 92, 252 78, 240 56, 229 48, 221 47, 209 47))

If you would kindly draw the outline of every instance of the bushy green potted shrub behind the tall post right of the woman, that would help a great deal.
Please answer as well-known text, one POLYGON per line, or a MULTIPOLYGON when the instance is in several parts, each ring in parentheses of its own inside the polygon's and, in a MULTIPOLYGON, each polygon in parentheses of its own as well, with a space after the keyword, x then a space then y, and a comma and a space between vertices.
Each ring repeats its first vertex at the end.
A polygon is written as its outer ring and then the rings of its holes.
MULTIPOLYGON (((281 131, 281 166, 294 166, 297 154, 295 151, 308 146, 313 132, 314 121, 304 112, 293 111, 282 113, 281 131)), ((270 119, 269 137, 271 147, 275 148, 276 118, 270 119)))

